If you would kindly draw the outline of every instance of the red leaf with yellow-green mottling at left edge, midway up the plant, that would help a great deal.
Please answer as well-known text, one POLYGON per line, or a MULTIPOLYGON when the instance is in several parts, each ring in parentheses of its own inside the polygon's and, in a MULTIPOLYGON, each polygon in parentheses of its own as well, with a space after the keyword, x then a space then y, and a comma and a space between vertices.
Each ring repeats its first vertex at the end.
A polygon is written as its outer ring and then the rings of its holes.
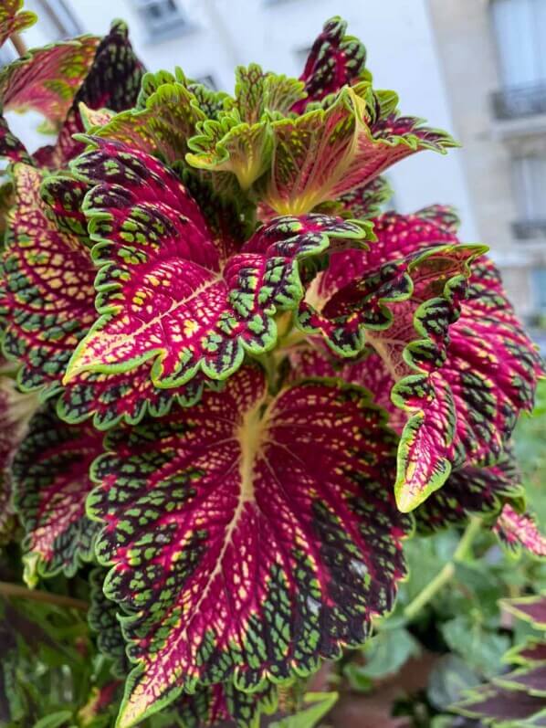
POLYGON ((44 388, 48 396, 58 391, 74 347, 96 319, 95 270, 79 238, 58 228, 60 208, 49 216, 39 192, 42 173, 17 164, 13 174, 16 200, 0 290, 3 348, 21 362, 22 388, 44 388))

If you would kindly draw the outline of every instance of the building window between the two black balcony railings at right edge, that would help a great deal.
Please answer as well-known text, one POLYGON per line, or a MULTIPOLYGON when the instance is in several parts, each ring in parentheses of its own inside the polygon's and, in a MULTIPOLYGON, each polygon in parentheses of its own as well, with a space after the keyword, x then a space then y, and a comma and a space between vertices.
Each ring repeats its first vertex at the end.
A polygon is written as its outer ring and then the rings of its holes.
POLYGON ((546 155, 514 160, 514 188, 518 220, 517 237, 543 236, 546 232, 546 155))

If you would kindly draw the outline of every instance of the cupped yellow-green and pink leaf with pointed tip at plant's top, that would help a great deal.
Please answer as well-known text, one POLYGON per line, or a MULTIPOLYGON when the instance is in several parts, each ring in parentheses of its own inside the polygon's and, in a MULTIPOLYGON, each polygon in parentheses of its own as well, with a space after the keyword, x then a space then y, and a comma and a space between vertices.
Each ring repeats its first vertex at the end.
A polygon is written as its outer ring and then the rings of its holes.
POLYGON ((326 109, 271 122, 271 167, 254 185, 260 203, 279 215, 302 215, 366 185, 392 164, 424 149, 445 153, 455 142, 418 120, 374 136, 367 82, 345 87, 326 109))

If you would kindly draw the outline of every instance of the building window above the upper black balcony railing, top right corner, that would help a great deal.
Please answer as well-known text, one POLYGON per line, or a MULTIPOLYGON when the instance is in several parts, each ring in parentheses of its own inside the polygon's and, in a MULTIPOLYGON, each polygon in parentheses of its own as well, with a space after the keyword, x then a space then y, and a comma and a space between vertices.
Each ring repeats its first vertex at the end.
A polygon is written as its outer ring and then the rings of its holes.
POLYGON ((546 0, 493 0, 505 87, 546 82, 546 0))

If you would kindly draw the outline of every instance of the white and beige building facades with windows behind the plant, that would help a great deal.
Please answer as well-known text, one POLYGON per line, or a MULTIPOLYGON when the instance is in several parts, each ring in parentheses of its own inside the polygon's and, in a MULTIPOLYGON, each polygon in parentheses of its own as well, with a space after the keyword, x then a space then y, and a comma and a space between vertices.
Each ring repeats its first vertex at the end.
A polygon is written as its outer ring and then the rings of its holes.
MULTIPOLYGON (((232 90, 257 61, 298 76, 324 20, 341 15, 368 49, 378 88, 404 113, 452 132, 461 150, 421 153, 388 173, 397 209, 458 208, 487 243, 520 314, 546 314, 546 0, 26 0, 29 46, 130 25, 146 67, 232 90)), ((0 62, 5 58, 0 58, 0 62)), ((37 146, 36 120, 12 121, 37 146)), ((43 142, 43 140, 42 140, 43 142)))

